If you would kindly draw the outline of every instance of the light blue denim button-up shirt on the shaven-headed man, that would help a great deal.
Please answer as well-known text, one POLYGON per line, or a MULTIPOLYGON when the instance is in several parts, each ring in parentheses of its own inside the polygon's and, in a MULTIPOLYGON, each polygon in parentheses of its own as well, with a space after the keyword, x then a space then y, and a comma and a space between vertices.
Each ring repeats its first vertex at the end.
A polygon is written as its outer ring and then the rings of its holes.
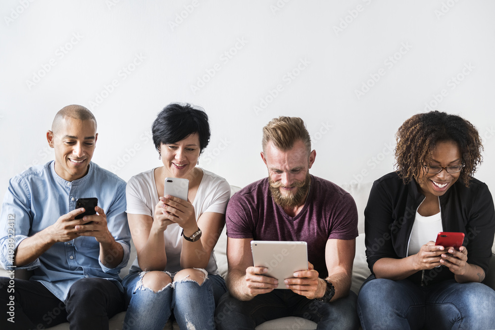
POLYGON ((70 286, 84 277, 114 281, 123 291, 119 273, 129 260, 131 239, 125 213, 125 181, 91 162, 88 174, 69 182, 55 173, 54 164, 51 161, 31 167, 10 180, 0 213, 0 263, 7 270, 15 270, 13 251, 23 239, 74 210, 78 198, 97 197, 108 230, 124 250, 117 267, 110 269, 101 263, 95 237, 80 236, 53 244, 38 259, 17 269, 33 270, 30 280, 41 282, 62 301, 70 286))

